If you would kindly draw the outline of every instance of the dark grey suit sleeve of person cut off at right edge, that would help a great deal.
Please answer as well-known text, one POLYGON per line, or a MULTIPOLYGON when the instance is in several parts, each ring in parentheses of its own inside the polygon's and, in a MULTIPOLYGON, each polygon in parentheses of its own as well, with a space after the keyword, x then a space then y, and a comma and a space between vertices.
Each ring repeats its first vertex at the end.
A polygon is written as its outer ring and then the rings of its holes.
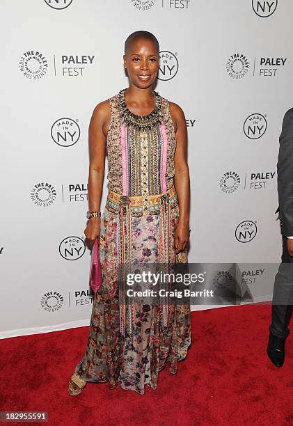
POLYGON ((293 108, 283 118, 277 172, 282 234, 293 235, 293 108))

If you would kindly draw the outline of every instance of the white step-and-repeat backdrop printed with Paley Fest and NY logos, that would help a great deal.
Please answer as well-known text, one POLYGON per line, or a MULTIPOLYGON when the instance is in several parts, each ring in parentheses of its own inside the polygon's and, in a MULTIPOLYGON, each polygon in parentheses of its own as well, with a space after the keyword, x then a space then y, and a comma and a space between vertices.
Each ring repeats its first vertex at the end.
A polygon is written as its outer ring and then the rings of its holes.
POLYGON ((124 42, 141 29, 160 44, 155 90, 187 120, 189 261, 246 264, 241 279, 269 300, 292 0, 15 0, 1 13, 0 337, 89 324, 88 124, 128 86, 124 42))

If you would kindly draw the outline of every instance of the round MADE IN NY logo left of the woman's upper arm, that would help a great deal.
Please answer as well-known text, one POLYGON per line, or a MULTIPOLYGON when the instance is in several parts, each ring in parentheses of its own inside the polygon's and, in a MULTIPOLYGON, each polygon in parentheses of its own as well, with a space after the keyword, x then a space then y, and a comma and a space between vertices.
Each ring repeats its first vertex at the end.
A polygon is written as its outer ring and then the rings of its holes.
POLYGON ((58 118, 51 127, 52 139, 57 145, 60 146, 72 146, 80 138, 80 127, 78 125, 78 119, 73 120, 72 118, 58 118))

